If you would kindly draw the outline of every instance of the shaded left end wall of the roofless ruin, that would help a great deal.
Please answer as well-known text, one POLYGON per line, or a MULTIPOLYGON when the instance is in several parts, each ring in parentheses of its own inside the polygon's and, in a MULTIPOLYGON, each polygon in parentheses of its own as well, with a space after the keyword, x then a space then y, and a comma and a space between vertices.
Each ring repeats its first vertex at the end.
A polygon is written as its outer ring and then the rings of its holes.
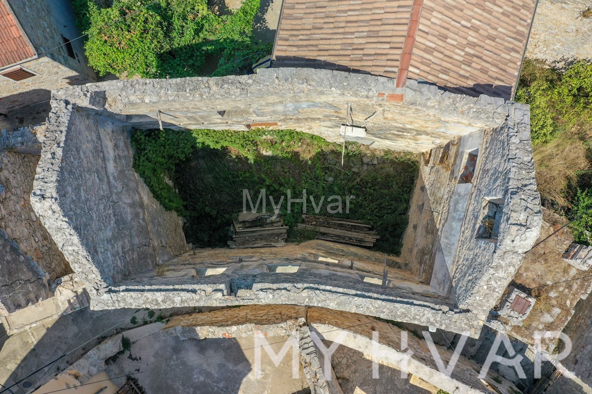
POLYGON ((187 250, 181 219, 157 203, 132 167, 129 132, 75 106, 49 116, 33 206, 89 288, 187 250))

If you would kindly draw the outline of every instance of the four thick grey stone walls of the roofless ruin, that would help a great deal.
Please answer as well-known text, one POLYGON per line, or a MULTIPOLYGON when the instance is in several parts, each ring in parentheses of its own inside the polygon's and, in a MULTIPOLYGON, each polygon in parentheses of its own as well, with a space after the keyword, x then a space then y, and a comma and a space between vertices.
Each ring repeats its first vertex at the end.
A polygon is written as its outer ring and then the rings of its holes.
POLYGON ((537 239, 541 220, 527 106, 413 80, 397 89, 384 77, 313 69, 56 91, 31 201, 95 309, 297 304, 472 336, 537 239), (157 203, 133 169, 133 127, 162 122, 249 132, 265 124, 341 141, 348 103, 367 114, 355 118, 359 122, 378 109, 362 143, 424 152, 414 195, 424 201, 412 203, 410 215, 429 220, 408 227, 406 242, 420 245, 423 238, 423 246, 403 255, 412 257, 407 263, 417 279, 383 288, 347 269, 295 256, 229 265, 205 276, 204 269, 224 262, 208 266, 186 255, 177 275, 158 275, 157 265, 188 246, 181 219, 157 203), (463 175, 469 154, 470 179, 463 175), (300 268, 280 273, 269 269, 274 264, 300 268))

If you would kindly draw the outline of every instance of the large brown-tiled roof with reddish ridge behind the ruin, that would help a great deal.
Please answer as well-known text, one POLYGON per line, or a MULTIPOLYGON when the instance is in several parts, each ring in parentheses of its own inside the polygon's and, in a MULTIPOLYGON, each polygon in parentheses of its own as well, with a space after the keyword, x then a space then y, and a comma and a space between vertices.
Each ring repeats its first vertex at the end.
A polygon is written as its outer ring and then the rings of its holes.
POLYGON ((536 0, 284 0, 274 66, 357 70, 509 98, 536 0))

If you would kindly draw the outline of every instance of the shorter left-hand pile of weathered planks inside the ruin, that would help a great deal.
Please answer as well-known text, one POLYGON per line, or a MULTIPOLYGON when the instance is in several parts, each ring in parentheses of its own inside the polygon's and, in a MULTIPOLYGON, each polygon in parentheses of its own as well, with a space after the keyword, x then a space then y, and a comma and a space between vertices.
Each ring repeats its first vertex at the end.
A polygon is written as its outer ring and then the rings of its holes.
POLYGON ((232 240, 228 245, 232 249, 285 246, 288 237, 284 220, 266 213, 240 213, 239 219, 233 220, 231 230, 232 240))

